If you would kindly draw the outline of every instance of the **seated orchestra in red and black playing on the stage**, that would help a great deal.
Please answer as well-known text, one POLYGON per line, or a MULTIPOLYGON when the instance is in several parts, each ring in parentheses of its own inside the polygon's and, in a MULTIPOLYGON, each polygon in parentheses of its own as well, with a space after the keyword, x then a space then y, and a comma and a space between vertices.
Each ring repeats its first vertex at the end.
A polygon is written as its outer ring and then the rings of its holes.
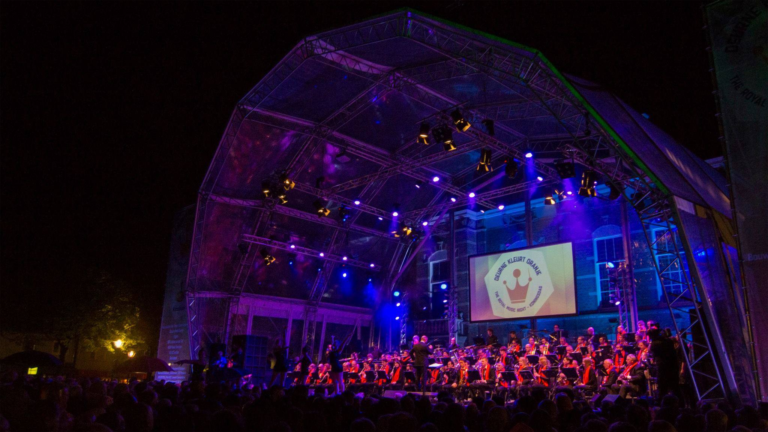
MULTIPOLYGON (((652 358, 645 323, 638 328, 642 333, 627 333, 619 327, 612 344, 593 328, 574 339, 555 328, 547 337, 529 335, 524 347, 515 332, 510 333, 506 345, 489 330, 487 339, 478 336, 474 341, 492 343, 464 347, 459 347, 455 338, 447 347, 429 345, 426 336, 417 335, 412 344, 395 352, 370 353, 364 358, 354 353, 342 359, 342 385, 363 392, 448 391, 464 398, 494 394, 506 400, 532 389, 554 395, 564 387, 582 396, 642 396, 647 391, 646 370, 652 358)), ((303 383, 316 391, 338 388, 332 381, 332 365, 303 363, 303 367, 296 366, 296 372, 303 373, 295 384, 303 383)))

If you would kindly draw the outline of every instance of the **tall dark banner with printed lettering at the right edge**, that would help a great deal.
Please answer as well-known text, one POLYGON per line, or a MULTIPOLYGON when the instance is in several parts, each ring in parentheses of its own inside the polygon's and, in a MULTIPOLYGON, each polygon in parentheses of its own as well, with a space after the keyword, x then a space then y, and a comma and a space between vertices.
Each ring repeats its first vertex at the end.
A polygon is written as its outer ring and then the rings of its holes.
POLYGON ((726 160, 757 351, 768 395, 768 0, 706 7, 726 160))

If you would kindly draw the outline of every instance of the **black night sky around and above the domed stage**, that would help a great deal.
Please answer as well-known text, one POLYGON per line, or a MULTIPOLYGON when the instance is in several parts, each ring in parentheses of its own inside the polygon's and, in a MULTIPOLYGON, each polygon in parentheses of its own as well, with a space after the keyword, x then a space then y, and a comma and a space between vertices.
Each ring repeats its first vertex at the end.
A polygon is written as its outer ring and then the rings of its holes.
POLYGON ((539 49, 720 154, 700 2, 450 4, 2 2, 0 323, 95 267, 136 287, 156 338, 173 215, 237 101, 301 38, 403 6, 539 49))

